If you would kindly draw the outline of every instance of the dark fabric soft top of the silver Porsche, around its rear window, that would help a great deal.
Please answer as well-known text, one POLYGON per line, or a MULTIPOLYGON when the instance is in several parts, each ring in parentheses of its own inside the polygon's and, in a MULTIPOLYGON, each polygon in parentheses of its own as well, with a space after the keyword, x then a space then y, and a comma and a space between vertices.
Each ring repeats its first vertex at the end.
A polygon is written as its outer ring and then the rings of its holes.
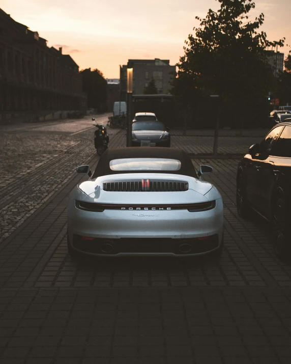
MULTIPOLYGON (((188 154, 178 148, 163 147, 131 147, 131 148, 112 148, 107 149, 100 157, 96 170, 92 178, 100 176, 113 175, 118 173, 133 173, 133 171, 112 171, 109 163, 113 159, 121 158, 167 158, 178 159, 181 162, 179 171, 159 171, 158 173, 171 173, 185 175, 197 178, 196 171, 188 154)), ((134 171, 134 173, 144 173, 142 170, 134 171)), ((149 171, 147 173, 157 173, 157 171, 149 171)))

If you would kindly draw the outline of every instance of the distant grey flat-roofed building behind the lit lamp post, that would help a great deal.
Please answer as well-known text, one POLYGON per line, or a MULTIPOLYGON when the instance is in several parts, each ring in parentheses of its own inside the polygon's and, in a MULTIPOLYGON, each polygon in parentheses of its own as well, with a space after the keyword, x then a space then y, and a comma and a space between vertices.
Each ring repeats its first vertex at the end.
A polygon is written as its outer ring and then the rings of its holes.
POLYGON ((141 95, 152 78, 159 94, 170 93, 170 80, 174 77, 176 66, 170 66, 169 60, 128 60, 120 66, 121 101, 126 101, 127 68, 133 68, 133 94, 141 95))

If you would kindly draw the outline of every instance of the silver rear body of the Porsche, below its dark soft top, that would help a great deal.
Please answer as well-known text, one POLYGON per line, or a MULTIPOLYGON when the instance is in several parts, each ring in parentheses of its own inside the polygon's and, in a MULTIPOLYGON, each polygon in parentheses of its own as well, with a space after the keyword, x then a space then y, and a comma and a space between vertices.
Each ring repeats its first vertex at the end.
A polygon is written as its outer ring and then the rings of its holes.
POLYGON ((108 256, 188 256, 218 249, 223 205, 216 188, 188 176, 152 176, 104 176, 76 188, 68 203, 70 248, 108 256))

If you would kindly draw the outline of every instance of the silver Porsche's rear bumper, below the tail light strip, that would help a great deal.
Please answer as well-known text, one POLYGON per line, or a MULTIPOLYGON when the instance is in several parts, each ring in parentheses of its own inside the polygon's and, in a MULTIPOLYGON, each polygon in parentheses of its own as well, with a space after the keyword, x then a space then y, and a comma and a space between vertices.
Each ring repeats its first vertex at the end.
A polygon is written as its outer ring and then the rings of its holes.
POLYGON ((217 249, 222 243, 222 238, 222 199, 216 200, 214 209, 202 212, 188 210, 141 211, 141 213, 128 210, 92 212, 77 209, 72 199, 68 204, 69 244, 72 248, 87 254, 104 255, 100 251, 100 246, 109 241, 114 247, 114 256, 181 256, 181 252, 177 252, 177 246, 181 244, 191 246, 194 244, 187 256, 201 255, 217 249), (208 239, 213 236, 217 237, 215 238, 217 243, 213 242, 213 238, 208 239), (88 237, 92 240, 78 237, 88 237), (199 239, 202 237, 205 240, 199 239))

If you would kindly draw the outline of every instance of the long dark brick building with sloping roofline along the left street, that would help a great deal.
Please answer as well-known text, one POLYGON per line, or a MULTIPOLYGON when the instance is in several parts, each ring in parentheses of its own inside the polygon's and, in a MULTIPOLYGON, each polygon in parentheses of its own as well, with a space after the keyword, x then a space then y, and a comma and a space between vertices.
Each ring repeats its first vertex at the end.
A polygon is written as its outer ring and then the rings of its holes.
POLYGON ((0 121, 86 108, 79 67, 0 9, 0 121))

